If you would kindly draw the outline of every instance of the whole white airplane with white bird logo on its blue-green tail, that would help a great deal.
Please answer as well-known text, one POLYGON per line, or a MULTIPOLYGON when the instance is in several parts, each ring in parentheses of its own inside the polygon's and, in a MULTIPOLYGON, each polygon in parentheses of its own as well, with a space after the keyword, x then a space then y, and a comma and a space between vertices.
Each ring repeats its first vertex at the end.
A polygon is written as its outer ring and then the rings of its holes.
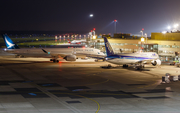
POLYGON ((17 56, 27 57, 51 57, 50 61, 59 62, 58 58, 62 57, 66 61, 76 61, 78 57, 86 56, 104 56, 99 49, 94 48, 19 48, 7 36, 3 35, 7 49, 6 52, 16 54, 17 56))

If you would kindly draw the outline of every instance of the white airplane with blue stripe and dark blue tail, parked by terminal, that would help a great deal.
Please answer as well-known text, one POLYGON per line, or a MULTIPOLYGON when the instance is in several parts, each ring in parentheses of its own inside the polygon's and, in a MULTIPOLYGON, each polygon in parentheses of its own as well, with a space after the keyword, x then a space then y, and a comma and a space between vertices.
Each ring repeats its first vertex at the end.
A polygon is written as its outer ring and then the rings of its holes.
POLYGON ((104 37, 104 43, 107 53, 107 57, 106 57, 107 62, 123 65, 123 67, 128 67, 128 64, 135 64, 136 68, 138 69, 143 68, 144 64, 148 62, 152 63, 153 66, 161 65, 159 56, 155 52, 114 54, 113 49, 106 37, 104 37))

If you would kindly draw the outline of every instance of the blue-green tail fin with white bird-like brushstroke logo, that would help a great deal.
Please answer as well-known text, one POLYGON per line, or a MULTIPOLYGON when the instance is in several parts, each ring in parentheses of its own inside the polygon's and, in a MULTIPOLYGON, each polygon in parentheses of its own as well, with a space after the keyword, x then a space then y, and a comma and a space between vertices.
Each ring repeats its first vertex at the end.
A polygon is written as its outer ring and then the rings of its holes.
POLYGON ((3 34, 2 36, 8 49, 19 49, 19 47, 8 37, 8 35, 3 34))

